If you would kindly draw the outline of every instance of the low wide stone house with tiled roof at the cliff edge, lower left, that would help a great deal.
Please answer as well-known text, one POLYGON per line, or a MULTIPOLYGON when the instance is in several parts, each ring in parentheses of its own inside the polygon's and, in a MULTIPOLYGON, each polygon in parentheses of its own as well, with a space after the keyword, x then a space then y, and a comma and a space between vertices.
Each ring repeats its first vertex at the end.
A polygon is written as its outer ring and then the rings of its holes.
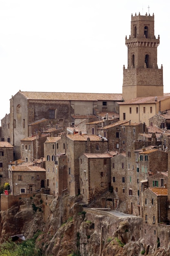
POLYGON ((39 166, 12 166, 9 178, 13 195, 32 193, 45 187, 46 170, 39 166))

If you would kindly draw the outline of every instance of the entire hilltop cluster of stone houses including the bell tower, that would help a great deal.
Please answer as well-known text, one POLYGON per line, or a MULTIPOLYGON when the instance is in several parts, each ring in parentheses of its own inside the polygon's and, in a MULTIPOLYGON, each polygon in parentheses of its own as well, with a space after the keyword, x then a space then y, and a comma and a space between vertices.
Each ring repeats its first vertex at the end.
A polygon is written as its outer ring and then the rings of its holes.
MULTIPOLYGON (((157 66, 154 15, 131 17, 122 94, 21 92, 0 129, 0 181, 13 195, 82 195, 144 219, 155 243, 170 224, 170 94, 157 66)), ((152 238, 152 239, 151 239, 152 238)))

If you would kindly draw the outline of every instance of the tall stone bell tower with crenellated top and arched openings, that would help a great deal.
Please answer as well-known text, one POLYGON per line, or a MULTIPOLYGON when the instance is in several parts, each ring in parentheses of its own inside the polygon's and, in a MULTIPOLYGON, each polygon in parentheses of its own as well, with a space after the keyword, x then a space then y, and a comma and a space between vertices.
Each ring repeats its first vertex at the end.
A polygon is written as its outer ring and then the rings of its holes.
POLYGON ((131 16, 131 32, 125 38, 128 47, 128 67, 123 70, 124 101, 137 97, 163 96, 163 67, 157 66, 159 36, 154 34, 152 16, 131 16))

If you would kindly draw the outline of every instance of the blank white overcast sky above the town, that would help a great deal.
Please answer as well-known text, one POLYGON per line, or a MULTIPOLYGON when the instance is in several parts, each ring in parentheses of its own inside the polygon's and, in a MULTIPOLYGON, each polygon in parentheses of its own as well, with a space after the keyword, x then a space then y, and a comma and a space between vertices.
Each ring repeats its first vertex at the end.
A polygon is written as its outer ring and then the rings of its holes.
POLYGON ((122 93, 131 13, 148 5, 170 92, 170 1, 0 0, 0 119, 19 90, 122 93))

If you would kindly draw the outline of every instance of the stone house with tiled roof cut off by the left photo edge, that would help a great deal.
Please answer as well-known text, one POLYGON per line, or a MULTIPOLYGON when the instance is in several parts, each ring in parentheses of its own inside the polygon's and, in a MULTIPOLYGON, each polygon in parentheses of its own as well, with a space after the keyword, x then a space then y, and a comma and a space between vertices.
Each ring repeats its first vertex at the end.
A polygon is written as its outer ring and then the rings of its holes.
POLYGON ((6 141, 0 141, 0 182, 9 182, 9 163, 13 162, 13 146, 6 141))

